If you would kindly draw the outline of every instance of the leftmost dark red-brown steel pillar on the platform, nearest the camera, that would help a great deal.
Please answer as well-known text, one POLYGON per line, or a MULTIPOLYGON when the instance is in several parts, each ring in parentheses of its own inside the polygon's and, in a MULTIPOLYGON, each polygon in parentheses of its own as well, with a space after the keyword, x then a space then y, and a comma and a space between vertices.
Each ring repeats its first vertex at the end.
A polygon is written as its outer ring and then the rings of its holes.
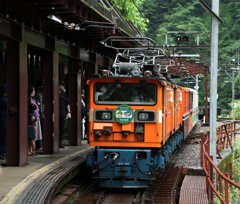
POLYGON ((24 41, 7 43, 7 76, 7 165, 24 166, 28 148, 27 45, 24 41))

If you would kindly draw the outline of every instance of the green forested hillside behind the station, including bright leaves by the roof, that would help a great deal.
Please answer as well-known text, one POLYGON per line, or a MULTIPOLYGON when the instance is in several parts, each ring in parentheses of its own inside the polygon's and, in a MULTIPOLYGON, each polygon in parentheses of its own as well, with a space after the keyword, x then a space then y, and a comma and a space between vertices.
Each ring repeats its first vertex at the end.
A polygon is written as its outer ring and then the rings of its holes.
MULTIPOLYGON (((199 31, 200 45, 211 45, 211 15, 196 0, 110 0, 122 16, 141 30, 146 37, 152 38, 157 46, 165 43, 166 31, 199 31)), ((205 0, 211 8, 212 0, 205 0)), ((235 83, 235 103, 240 109, 240 2, 221 0, 219 17, 219 63, 218 63, 218 108, 231 110, 232 84, 235 83), (231 78, 230 78, 231 77, 231 78)), ((189 44, 196 44, 196 34, 188 34, 189 44)), ((168 36, 169 45, 175 43, 176 34, 168 36)), ((183 54, 197 54, 182 50, 183 54)), ((177 52, 177 50, 176 50, 177 52)), ((203 48, 203 54, 210 61, 210 49, 203 48)), ((195 58, 196 59, 196 58, 195 58)), ((200 60, 202 59, 196 59, 200 60)), ((209 76, 210 79, 210 76, 209 76)), ((194 88, 192 77, 177 79, 179 85, 194 88)), ((199 106, 205 105, 205 77, 199 76, 199 106)), ((211 84, 210 84, 211 85, 211 84)))

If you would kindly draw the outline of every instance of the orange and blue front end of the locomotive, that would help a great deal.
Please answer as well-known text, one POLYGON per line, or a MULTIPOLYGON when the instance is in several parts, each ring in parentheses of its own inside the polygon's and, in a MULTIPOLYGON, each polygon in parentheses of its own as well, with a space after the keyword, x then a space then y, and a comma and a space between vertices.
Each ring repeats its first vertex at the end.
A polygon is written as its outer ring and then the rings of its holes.
POLYGON ((87 157, 101 187, 147 187, 153 172, 182 139, 175 135, 163 147, 163 85, 159 80, 108 78, 88 81, 90 91, 87 157))

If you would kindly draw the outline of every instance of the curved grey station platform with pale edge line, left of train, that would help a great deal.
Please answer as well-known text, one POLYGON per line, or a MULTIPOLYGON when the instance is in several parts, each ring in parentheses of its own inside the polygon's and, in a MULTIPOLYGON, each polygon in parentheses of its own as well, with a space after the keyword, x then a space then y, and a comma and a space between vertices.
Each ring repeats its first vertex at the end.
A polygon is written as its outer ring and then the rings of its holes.
POLYGON ((94 147, 83 140, 81 146, 65 146, 59 154, 29 156, 24 167, 9 167, 5 160, 0 160, 0 203, 44 203, 56 183, 93 151, 94 147))

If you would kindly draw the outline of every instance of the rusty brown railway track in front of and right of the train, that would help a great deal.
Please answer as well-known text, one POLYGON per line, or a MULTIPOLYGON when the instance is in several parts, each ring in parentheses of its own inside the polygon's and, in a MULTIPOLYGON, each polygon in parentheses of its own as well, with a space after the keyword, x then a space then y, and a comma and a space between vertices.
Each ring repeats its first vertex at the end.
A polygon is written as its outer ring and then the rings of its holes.
POLYGON ((169 166, 147 189, 91 188, 72 204, 175 204, 181 169, 169 166))

